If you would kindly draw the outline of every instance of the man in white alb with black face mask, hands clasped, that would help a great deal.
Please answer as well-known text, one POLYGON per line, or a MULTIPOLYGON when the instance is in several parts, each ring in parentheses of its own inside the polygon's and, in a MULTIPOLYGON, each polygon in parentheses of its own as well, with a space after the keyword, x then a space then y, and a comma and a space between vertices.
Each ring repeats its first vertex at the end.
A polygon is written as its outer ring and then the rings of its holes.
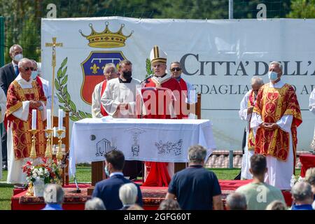
POLYGON ((132 78, 132 62, 119 62, 120 76, 109 80, 101 98, 106 113, 113 118, 137 118, 136 89, 140 81, 132 78))

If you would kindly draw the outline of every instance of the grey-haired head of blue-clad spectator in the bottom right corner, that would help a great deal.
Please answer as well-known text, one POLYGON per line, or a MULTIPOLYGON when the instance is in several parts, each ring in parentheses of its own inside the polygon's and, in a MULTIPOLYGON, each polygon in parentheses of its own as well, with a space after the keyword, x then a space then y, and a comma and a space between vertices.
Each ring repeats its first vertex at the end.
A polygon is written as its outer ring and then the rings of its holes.
POLYGON ((304 204, 305 201, 313 202, 313 193, 311 192, 311 185, 307 182, 297 182, 291 189, 291 195, 295 203, 304 204))

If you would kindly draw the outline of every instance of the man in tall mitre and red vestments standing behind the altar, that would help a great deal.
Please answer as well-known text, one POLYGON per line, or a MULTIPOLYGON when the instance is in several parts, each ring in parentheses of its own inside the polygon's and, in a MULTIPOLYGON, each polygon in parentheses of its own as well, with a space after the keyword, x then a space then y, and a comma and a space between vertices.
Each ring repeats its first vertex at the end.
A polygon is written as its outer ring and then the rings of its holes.
MULTIPOLYGON (((181 119, 181 86, 167 73, 167 55, 158 46, 151 50, 153 77, 144 83, 143 118, 181 119), (152 89, 150 89, 152 87, 152 89), (157 88, 155 88, 157 87, 157 88), (161 94, 162 93, 162 94, 161 94), (147 104, 150 102, 150 104, 147 104)), ((143 186, 168 186, 174 174, 174 163, 145 162, 146 176, 143 186)))

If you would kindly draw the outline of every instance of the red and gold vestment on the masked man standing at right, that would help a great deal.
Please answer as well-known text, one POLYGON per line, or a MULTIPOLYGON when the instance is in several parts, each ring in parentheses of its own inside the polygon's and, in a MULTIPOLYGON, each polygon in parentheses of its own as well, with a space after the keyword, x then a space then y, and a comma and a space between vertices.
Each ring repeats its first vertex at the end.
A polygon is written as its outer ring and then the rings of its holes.
MULTIPOLYGON (((258 92, 253 112, 258 113, 265 123, 276 123, 284 115, 292 115, 291 133, 293 140, 293 155, 295 158, 297 145, 296 128, 302 123, 301 111, 295 91, 291 85, 285 84, 281 88, 269 87, 269 83, 262 85, 258 92)), ((280 128, 265 130, 258 128, 255 136, 255 153, 272 155, 286 161, 289 153, 290 136, 280 128)))

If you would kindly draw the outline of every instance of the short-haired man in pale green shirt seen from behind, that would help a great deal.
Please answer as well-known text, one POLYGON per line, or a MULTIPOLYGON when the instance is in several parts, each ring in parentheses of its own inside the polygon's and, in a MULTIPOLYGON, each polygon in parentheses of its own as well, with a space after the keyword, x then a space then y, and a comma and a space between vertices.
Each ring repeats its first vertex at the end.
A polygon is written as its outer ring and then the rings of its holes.
POLYGON ((264 155, 255 154, 251 157, 249 172, 253 174, 253 181, 236 190, 237 193, 245 195, 248 210, 265 210, 267 205, 274 200, 285 203, 281 190, 264 183, 267 172, 267 162, 264 155))

